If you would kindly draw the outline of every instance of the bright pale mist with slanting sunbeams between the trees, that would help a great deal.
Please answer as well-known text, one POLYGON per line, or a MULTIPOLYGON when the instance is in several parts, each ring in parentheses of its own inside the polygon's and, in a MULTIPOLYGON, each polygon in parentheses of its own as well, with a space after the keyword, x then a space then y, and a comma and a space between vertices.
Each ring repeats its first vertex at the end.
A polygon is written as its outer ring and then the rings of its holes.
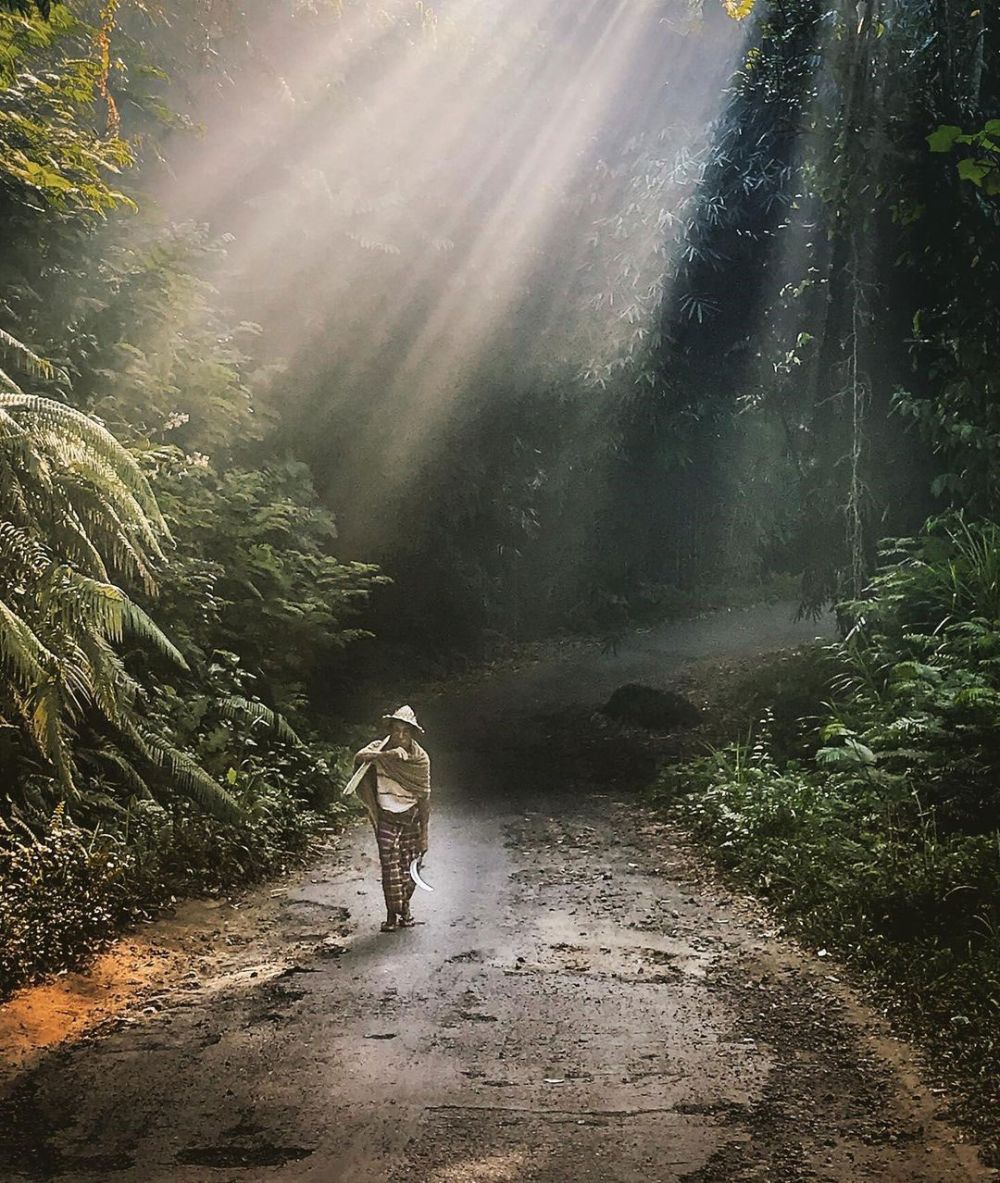
POLYGON ((743 35, 688 0, 344 5, 275 13, 189 96, 160 201, 228 235, 218 283, 349 547, 393 544, 484 401, 596 408, 647 347, 743 35))

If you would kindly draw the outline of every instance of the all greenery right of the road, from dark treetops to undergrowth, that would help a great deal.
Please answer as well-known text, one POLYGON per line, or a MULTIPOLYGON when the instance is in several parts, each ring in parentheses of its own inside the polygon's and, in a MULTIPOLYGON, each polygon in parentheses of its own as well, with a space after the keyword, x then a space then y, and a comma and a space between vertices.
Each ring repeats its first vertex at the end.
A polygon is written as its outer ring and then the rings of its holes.
MULTIPOLYGON (((772 487, 744 486, 769 523, 759 544, 802 573, 806 610, 840 601, 844 639, 822 658, 822 702, 766 711, 663 793, 796 931, 885 987, 986 1116, 1000 22, 895 0, 753 8, 665 305, 664 373, 688 400, 725 388, 769 441, 744 453, 780 476, 775 515, 772 487)), ((817 660, 801 659, 806 680, 817 660)))

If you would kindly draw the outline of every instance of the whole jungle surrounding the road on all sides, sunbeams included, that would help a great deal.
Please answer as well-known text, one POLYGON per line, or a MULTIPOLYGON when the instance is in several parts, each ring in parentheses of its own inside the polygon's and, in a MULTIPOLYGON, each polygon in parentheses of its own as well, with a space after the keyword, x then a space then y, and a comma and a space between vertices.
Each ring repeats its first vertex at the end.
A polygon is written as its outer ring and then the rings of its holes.
MULTIPOLYGON (((531 759, 641 749, 1000 1165, 993 0, 0 0, 0 997, 302 866, 400 700, 774 601, 697 742, 531 759)), ((953 1177, 741 1169, 636 1177, 953 1177)))

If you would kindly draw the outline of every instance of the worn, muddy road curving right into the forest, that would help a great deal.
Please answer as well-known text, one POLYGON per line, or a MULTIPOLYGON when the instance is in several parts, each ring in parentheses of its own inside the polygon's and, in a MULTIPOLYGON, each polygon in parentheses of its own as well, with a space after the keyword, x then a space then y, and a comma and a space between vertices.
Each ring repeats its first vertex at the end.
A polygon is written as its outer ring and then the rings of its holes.
POLYGON ((159 939, 185 930, 200 956, 178 945, 153 998, 8 1084, 0 1178, 994 1177, 828 959, 633 800, 544 758, 547 710, 814 632, 727 614, 427 704, 422 923, 378 932, 363 826, 284 885, 188 905, 159 939))

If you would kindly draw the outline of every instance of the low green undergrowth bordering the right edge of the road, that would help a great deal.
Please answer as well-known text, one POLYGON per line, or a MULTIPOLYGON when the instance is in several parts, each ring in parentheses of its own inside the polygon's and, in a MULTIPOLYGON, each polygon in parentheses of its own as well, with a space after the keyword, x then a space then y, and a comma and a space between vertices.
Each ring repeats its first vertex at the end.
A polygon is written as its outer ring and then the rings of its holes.
MULTIPOLYGON (((656 794, 793 931, 884 989, 995 1137, 1000 530, 936 521, 883 557, 799 728, 764 706, 656 794)), ((817 661, 799 658, 806 681, 817 661)))

